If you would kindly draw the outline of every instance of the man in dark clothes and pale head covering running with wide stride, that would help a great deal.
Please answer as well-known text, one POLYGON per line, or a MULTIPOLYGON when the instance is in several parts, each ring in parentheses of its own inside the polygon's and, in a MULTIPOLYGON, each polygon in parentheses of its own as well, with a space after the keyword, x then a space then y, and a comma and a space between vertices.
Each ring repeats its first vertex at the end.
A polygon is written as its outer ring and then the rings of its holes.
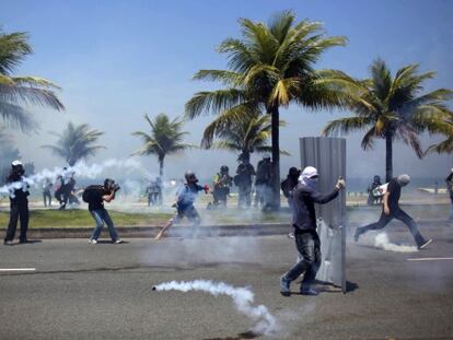
POLYGON ((356 242, 359 241, 360 235, 367 233, 368 231, 382 230, 393 219, 399 220, 407 225, 419 249, 425 248, 432 242, 431 238, 425 239, 423 236, 421 236, 416 222, 406 212, 404 212, 403 209, 399 208, 398 201, 402 195, 402 187, 408 185, 409 181, 410 176, 406 174, 392 178, 392 180, 388 183, 387 190, 384 194, 384 204, 381 218, 375 223, 358 227, 353 234, 356 242))

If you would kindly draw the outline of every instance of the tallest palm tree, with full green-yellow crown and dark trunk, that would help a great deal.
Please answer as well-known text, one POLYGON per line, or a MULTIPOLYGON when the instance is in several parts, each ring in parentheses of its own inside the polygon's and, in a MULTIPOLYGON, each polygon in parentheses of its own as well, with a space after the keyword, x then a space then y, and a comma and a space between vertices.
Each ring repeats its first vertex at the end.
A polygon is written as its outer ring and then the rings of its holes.
POLYGON ((292 12, 276 14, 268 24, 247 19, 239 21, 242 38, 222 42, 219 52, 226 54, 228 70, 200 70, 197 80, 219 81, 225 87, 196 93, 186 103, 186 115, 195 118, 212 112, 224 117, 244 117, 264 112, 271 117, 274 164, 274 204, 280 192, 280 108, 291 103, 311 109, 333 108, 344 104, 342 92, 333 84, 334 71, 316 71, 321 56, 346 38, 329 37, 323 25, 303 20, 295 22, 292 12))

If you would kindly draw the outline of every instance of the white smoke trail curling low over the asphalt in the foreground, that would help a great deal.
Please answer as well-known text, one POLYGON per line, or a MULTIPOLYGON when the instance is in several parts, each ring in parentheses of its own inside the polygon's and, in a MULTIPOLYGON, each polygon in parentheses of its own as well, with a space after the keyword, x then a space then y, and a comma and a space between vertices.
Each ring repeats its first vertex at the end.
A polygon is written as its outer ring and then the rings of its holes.
POLYGON ((228 295, 233 298, 237 310, 254 323, 256 323, 253 331, 260 335, 271 335, 277 331, 277 323, 275 317, 269 313, 266 306, 252 306, 254 294, 251 290, 245 288, 234 288, 223 282, 212 282, 210 280, 195 280, 195 281, 172 281, 158 284, 152 288, 153 291, 200 291, 207 292, 214 296, 228 295))

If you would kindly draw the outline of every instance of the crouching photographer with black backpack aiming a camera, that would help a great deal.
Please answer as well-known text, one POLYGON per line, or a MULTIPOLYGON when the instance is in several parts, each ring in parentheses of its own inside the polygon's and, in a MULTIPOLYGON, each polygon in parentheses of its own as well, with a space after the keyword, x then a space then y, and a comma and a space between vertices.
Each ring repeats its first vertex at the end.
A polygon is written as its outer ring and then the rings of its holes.
POLYGON ((118 233, 116 232, 115 225, 107 210, 104 208, 104 201, 113 201, 115 199, 115 194, 118 190, 119 186, 115 183, 115 180, 106 178, 103 186, 89 186, 83 191, 82 199, 89 203, 90 213, 96 222, 96 226, 94 227, 89 241, 93 245, 97 244, 97 238, 101 235, 104 223, 107 224, 112 242, 114 244, 123 243, 123 241, 118 237, 118 233))

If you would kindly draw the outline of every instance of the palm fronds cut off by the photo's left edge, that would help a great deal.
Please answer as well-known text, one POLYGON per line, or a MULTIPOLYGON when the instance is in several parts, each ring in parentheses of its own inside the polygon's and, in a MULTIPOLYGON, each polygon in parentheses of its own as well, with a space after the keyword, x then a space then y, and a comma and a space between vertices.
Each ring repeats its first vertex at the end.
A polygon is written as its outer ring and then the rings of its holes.
POLYGON ((33 52, 27 40, 28 35, 23 32, 7 34, 0 30, 0 115, 4 122, 22 130, 35 128, 35 121, 22 104, 65 109, 54 92, 59 87, 50 81, 12 75, 22 60, 33 52))

